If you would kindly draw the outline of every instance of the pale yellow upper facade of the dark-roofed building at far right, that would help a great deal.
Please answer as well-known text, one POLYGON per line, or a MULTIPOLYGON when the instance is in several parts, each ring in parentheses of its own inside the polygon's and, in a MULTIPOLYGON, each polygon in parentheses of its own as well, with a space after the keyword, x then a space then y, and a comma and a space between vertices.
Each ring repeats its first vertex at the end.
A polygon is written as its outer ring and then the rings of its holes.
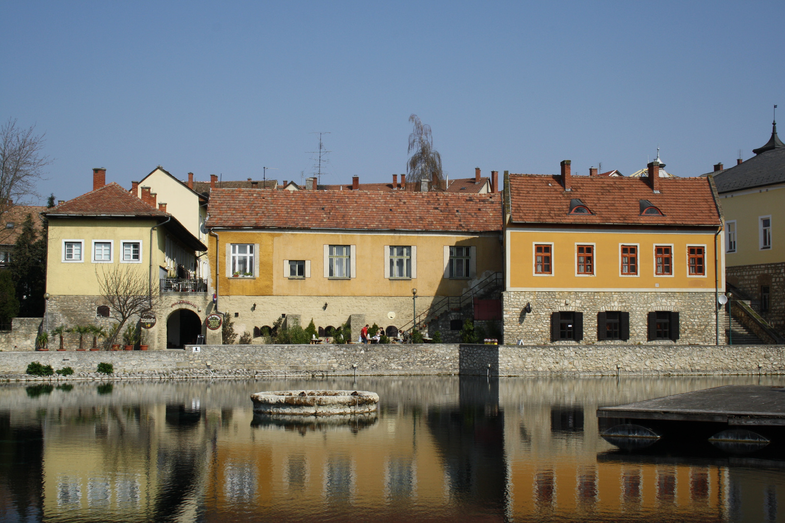
POLYGON ((728 250, 728 267, 780 263, 785 261, 785 185, 746 189, 720 195, 720 205, 725 214, 725 239, 728 249, 728 234, 732 227, 736 231, 736 249, 728 250), (761 245, 761 218, 770 216, 772 246, 761 245))

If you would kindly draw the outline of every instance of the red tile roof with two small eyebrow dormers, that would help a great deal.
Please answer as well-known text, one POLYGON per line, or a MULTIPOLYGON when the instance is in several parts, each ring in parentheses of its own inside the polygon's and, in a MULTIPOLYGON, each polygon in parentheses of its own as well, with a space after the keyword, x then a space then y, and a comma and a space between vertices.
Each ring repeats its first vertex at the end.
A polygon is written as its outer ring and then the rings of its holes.
POLYGON ((516 223, 609 223, 652 225, 711 225, 720 222, 706 178, 660 178, 655 194, 648 178, 571 176, 565 192, 561 176, 509 175, 511 220, 516 223), (579 199, 592 214, 569 214, 571 199, 579 199), (664 216, 641 216, 648 200, 664 216))

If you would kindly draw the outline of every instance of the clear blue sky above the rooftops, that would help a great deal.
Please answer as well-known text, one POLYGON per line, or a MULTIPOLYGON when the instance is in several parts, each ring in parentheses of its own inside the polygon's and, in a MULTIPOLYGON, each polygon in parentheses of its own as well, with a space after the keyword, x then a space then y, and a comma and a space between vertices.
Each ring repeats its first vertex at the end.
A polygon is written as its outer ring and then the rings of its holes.
MULTIPOLYGON (((46 132, 42 194, 405 173, 409 115, 452 177, 697 176, 785 111, 785 2, 0 2, 0 119, 46 132), (270 172, 268 172, 270 173, 270 172)), ((780 118, 785 125, 785 112, 780 118)), ((785 128, 783 128, 785 134, 785 128)))

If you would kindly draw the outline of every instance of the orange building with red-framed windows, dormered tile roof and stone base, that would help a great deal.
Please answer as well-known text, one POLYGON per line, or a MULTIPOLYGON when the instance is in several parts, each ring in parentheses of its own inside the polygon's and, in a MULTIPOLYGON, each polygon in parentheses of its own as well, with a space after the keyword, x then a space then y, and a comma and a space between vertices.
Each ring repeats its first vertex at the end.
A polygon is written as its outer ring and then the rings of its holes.
POLYGON ((725 289, 711 181, 506 175, 506 342, 715 343, 725 289))

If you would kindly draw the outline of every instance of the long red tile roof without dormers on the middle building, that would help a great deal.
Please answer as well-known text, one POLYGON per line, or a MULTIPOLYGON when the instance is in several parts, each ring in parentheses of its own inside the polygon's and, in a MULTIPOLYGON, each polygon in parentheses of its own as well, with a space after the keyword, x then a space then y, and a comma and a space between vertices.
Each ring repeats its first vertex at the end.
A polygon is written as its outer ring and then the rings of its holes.
POLYGON ((214 189, 207 227, 500 231, 501 194, 214 189))

